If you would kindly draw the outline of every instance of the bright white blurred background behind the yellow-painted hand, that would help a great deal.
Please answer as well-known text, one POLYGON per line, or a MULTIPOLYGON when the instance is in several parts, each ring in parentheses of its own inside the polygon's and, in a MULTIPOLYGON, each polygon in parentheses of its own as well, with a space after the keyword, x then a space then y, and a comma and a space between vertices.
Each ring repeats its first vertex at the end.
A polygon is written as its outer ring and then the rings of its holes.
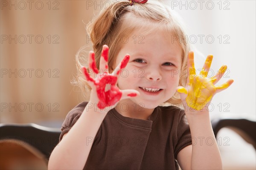
MULTIPOLYGON (((194 46, 195 68, 202 68, 205 57, 213 55, 213 76, 227 65, 222 84, 234 83, 212 100, 216 113, 249 113, 256 116, 256 2, 254 0, 168 1, 183 18, 189 42, 194 46)), ((210 109, 210 108, 209 108, 210 109)))

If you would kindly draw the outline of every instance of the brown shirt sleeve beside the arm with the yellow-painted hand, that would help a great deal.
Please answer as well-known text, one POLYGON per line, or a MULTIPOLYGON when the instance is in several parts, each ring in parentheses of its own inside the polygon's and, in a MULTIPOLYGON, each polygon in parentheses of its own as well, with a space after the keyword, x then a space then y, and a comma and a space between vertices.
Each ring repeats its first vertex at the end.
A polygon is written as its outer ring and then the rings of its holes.
POLYGON ((177 125, 177 144, 174 148, 174 156, 177 159, 177 154, 184 147, 192 144, 191 133, 189 128, 189 123, 186 119, 185 112, 180 110, 180 114, 178 117, 178 125, 177 125))

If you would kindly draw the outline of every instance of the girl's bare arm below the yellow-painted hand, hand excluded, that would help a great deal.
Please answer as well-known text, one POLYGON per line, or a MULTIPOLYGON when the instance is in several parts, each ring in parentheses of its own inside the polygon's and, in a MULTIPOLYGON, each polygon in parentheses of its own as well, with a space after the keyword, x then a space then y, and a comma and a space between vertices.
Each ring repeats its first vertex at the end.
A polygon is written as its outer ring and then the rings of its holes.
POLYGON ((221 154, 218 149, 209 112, 195 114, 187 112, 186 117, 192 136, 192 145, 183 148, 177 160, 182 169, 222 170, 221 154))

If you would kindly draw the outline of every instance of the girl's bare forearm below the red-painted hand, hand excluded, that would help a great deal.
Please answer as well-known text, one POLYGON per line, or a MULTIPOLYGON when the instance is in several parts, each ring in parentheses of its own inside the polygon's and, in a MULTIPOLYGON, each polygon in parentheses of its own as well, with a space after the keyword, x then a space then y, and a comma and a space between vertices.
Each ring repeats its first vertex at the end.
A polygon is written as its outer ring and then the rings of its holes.
POLYGON ((75 125, 52 151, 48 163, 49 170, 81 170, 84 168, 93 145, 91 139, 95 138, 107 114, 95 112, 94 108, 87 106, 75 125))

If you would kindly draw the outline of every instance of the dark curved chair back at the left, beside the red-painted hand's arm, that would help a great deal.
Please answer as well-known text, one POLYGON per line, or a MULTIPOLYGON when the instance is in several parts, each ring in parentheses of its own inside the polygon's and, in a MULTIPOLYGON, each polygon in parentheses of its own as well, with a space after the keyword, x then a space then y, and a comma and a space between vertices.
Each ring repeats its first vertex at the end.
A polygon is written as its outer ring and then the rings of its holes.
POLYGON ((30 124, 0 124, 0 142, 21 141, 41 153, 48 162, 52 150, 59 142, 60 129, 30 124))

